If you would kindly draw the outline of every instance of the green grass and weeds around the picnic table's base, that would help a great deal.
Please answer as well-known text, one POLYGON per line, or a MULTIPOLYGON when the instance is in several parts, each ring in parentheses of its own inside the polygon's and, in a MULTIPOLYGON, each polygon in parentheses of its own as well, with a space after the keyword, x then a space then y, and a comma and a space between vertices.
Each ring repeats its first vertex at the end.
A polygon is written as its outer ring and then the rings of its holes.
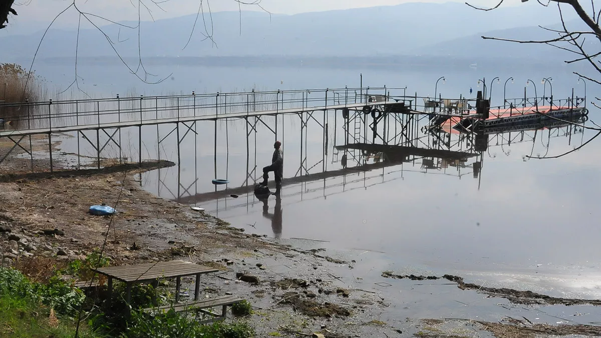
MULTIPOLYGON (((69 268, 77 271, 82 266, 69 268)), ((132 300, 144 304, 150 300, 153 289, 141 286, 134 291, 132 300)), ((60 280, 58 275, 47 278, 47 283, 35 283, 16 269, 0 268, 0 338, 72 338, 82 302, 81 290, 60 280)), ((119 308, 129 313, 129 309, 119 308)), ((249 303, 242 306, 243 312, 249 308, 249 303)), ((154 316, 133 310, 131 315, 124 316, 123 311, 105 314, 96 309, 85 317, 79 330, 82 338, 255 337, 254 328, 246 322, 201 325, 193 315, 173 310, 154 316)))

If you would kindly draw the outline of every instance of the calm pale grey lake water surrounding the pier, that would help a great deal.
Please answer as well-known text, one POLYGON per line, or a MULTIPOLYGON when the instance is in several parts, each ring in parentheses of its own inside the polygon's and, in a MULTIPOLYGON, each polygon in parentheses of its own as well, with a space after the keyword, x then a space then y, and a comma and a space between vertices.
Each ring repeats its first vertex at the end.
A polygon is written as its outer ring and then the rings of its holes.
MULTIPOLYGON (((46 67, 38 71, 47 74, 53 82, 68 84, 69 67, 46 67), (62 75, 64 74, 67 75, 62 75)), ((72 70, 71 70, 72 71, 72 70)), ((112 96, 136 88, 137 94, 211 92, 219 90, 299 89, 358 86, 359 73, 364 74, 364 86, 407 86, 408 93, 433 96, 435 82, 440 76, 437 93, 459 97, 474 92, 477 79, 501 77, 493 83, 493 105, 502 103, 505 79, 507 97, 523 97, 525 82, 537 84, 542 96, 540 79, 552 76, 555 97, 575 93, 584 95, 584 87, 571 73, 541 73, 538 70, 326 70, 326 69, 271 69, 228 67, 178 67, 172 71, 174 79, 157 86, 136 84, 120 75, 120 69, 109 69, 99 76, 99 69, 88 67, 87 77, 94 78, 96 86, 87 87, 96 95, 112 96), (114 77, 112 77, 114 75, 114 77), (109 76, 111 76, 109 78, 109 76)), ((91 81, 91 80, 90 80, 91 81)), ((88 81, 86 81, 88 82, 88 81)), ((89 84, 87 84, 89 85, 89 84)), ((528 96, 534 88, 526 87, 528 96)), ((546 86, 546 95, 549 95, 546 86)), ((589 88, 590 90, 590 88, 589 88)), ((123 94, 122 94, 123 95, 123 94)), ((592 94, 590 95, 592 97, 592 94)), ((591 109, 590 119, 599 113, 591 109)), ((318 114, 318 120, 323 115, 318 114)), ((273 119, 266 118, 267 124, 273 119)), ((295 176, 301 158, 301 121, 298 117, 278 120, 278 138, 282 139, 285 154, 284 177, 295 176)), ((332 149, 343 143, 340 117, 328 116, 328 155, 326 164, 317 164, 310 173, 340 169, 340 156, 332 149), (334 124, 337 131, 334 132, 334 124)), ((246 125, 244 121, 218 123, 217 152, 214 152, 213 122, 199 123, 181 144, 182 165, 153 171, 142 176, 145 188, 164 198, 177 198, 215 191, 210 180, 215 177, 230 180, 229 188, 242 186, 247 177, 260 178, 260 170, 269 164, 275 138, 267 128, 259 126, 251 134, 247 170, 246 125), (255 146, 256 142, 256 146, 255 146), (255 157, 256 153, 256 157, 255 157), (257 171, 252 171, 257 166, 257 171), (215 167, 217 168, 215 170, 215 167), (217 173, 215 173, 215 171, 217 173), (249 173, 249 171, 251 171, 249 173), (250 175, 249 175, 250 174, 250 175)), ((169 126, 159 128, 160 137, 168 134, 169 126)), ((370 264, 382 269, 402 269, 406 266, 440 272, 468 271, 472 274, 495 276, 498 280, 512 280, 519 275, 522 281, 559 288, 594 297, 601 295, 599 269, 598 229, 600 217, 597 192, 601 188, 599 172, 601 158, 599 142, 593 142, 579 152, 559 159, 525 159, 525 155, 559 155, 582 144, 594 135, 584 131, 571 137, 569 128, 529 131, 490 138, 487 152, 470 158, 465 168, 425 169, 424 161, 415 161, 378 170, 347 174, 307 183, 285 185, 281 200, 271 197, 267 204, 252 194, 239 198, 194 203, 207 212, 244 227, 248 232, 266 234, 287 241, 293 238, 314 239, 319 246, 359 253, 376 253, 370 264), (535 138, 534 138, 535 136, 535 138), (534 140, 532 140, 534 138, 534 140), (523 140, 523 141, 522 141, 523 140), (472 165, 477 159, 483 163, 480 176, 474 177, 472 165), (279 218, 281 217, 281 222, 279 218), (539 273, 540 272, 540 273, 539 273), (511 277, 513 276, 513 277, 511 277)), ((136 144, 137 131, 124 131, 124 138, 136 144), (127 136, 126 136, 127 135, 127 136)), ((143 129, 144 157, 158 156, 157 129, 143 129)), ((323 155, 322 129, 312 121, 303 152, 307 152, 308 167, 318 163, 323 155)), ((426 144, 432 140, 424 139, 426 144)), ((66 151, 73 149, 73 141, 64 144, 66 151)), ((124 152, 136 154, 137 146, 124 152)), ((90 152, 91 153, 91 152, 90 152)), ((132 155, 136 158, 136 155, 132 155)), ((160 146, 160 158, 177 161, 175 138, 160 146)), ((349 160, 350 162, 350 160, 349 160)), ((349 164, 350 165, 350 164, 349 164)), ((218 188, 223 189, 222 187, 218 188)), ((492 278, 492 277, 491 277, 492 278)))

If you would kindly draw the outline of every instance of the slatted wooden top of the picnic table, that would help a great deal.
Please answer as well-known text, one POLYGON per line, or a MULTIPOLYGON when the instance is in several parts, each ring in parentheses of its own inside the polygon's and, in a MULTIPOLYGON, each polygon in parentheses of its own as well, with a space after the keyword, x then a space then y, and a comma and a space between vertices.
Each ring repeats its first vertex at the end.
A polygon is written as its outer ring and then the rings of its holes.
POLYGON ((218 269, 199 265, 183 260, 172 260, 170 262, 156 262, 136 265, 109 266, 98 268, 96 272, 112 277, 120 281, 148 281, 158 278, 183 277, 195 274, 208 274, 217 272, 218 269))

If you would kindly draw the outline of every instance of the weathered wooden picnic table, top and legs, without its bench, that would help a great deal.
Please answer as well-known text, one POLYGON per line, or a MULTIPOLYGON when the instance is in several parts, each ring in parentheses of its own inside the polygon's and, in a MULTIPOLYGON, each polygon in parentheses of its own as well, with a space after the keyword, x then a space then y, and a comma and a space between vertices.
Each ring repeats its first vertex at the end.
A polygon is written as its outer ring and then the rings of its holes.
POLYGON ((195 275, 194 300, 198 300, 200 295, 200 275, 210 272, 217 272, 218 269, 209 266, 199 265, 183 260, 172 260, 170 262, 156 262, 136 265, 109 266, 107 268, 95 269, 99 274, 108 278, 109 302, 112 296, 113 279, 126 283, 126 302, 130 303, 132 297, 132 286, 138 283, 158 285, 159 279, 175 278, 175 301, 179 301, 180 287, 182 277, 195 275))

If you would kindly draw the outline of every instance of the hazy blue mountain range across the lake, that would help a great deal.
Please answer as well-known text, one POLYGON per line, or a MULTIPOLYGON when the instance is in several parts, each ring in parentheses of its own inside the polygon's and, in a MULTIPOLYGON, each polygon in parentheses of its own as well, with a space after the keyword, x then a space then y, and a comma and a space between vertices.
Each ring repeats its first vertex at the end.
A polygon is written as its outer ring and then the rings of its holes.
MULTIPOLYGON (((203 36, 204 24, 196 14, 175 19, 142 22, 142 57, 386 57, 432 55, 438 57, 511 57, 560 59, 565 55, 545 46, 523 46, 482 40, 480 35, 540 38, 534 24, 557 23, 554 11, 538 4, 477 11, 465 4, 413 3, 391 7, 304 13, 293 16, 261 12, 213 13, 216 46, 203 36), (545 11, 543 13, 543 11, 545 11), (545 14, 549 13, 549 14, 545 14), (240 26, 242 20, 242 26, 240 26)), ((136 25, 135 23, 123 23, 136 25)), ((21 23, 22 25, 22 23, 21 23)), ((82 29, 50 29, 41 44, 39 58, 137 57, 138 30, 118 25, 82 29)), ((5 29, 2 29, 5 31, 5 29)), ((1 32, 1 31, 0 31, 1 32)), ((0 61, 18 61, 34 55, 43 32, 27 35, 0 34, 0 61)), ((548 36, 548 34, 546 35, 548 36)))

